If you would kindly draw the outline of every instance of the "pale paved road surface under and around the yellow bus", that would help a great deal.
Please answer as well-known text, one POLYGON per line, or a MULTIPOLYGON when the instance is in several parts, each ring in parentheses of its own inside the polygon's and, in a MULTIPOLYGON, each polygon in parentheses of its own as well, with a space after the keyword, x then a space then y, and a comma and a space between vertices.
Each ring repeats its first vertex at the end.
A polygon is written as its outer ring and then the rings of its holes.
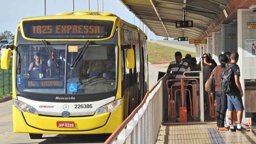
MULTIPOLYGON (((158 77, 158 71, 166 72, 161 69, 168 64, 149 64, 149 88, 152 88, 158 77)), ((89 144, 103 143, 109 135, 67 135, 67 134, 44 134, 42 139, 30 139, 28 133, 14 133, 12 129, 12 101, 0 103, 0 143, 1 144, 89 144)))

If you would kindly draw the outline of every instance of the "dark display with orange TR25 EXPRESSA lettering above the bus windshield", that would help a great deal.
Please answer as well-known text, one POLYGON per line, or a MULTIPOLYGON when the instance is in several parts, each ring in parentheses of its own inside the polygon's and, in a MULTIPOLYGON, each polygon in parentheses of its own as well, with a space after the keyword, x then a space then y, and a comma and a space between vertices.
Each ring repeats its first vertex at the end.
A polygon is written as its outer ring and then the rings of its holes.
POLYGON ((51 19, 23 22, 27 38, 103 39, 110 36, 113 21, 89 19, 51 19))

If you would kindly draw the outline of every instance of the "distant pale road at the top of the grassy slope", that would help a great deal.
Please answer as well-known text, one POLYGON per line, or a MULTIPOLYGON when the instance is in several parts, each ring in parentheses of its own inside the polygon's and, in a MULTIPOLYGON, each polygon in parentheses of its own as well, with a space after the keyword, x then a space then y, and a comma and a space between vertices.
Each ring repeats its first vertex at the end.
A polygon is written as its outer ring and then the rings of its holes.
POLYGON ((159 45, 164 45, 164 46, 173 47, 173 48, 182 49, 182 50, 196 53, 196 47, 187 46, 182 43, 180 43, 180 45, 178 45, 177 44, 178 42, 172 43, 171 41, 168 41, 168 40, 150 40, 150 42, 154 42, 159 45))

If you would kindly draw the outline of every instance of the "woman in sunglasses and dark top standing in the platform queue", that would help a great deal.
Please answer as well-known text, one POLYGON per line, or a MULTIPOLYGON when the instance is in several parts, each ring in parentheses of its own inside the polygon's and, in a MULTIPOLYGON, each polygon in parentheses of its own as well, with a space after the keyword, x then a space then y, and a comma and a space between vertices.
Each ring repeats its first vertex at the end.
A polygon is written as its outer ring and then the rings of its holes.
MULTIPOLYGON (((203 80, 205 85, 206 81, 211 76, 211 71, 213 70, 213 64, 209 62, 210 59, 207 54, 203 54, 202 58, 203 58, 203 80)), ((198 63, 198 70, 201 70, 201 59, 198 63)), ((213 99, 215 99, 215 97, 213 99)), ((205 91, 205 87, 204 87, 204 105, 205 105, 204 110, 207 112, 209 111, 209 104, 210 102, 208 98, 208 92, 205 91)))

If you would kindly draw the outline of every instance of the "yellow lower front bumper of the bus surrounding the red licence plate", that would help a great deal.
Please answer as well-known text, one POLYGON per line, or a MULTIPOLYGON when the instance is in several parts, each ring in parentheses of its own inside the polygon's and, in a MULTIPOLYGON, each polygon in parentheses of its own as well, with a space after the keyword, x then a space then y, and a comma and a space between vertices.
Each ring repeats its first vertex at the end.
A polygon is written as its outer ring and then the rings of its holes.
POLYGON ((12 105, 13 131, 17 133, 102 134, 113 133, 122 123, 122 105, 111 113, 87 117, 50 117, 20 112, 12 105), (58 121, 75 122, 74 128, 57 127, 58 121))

